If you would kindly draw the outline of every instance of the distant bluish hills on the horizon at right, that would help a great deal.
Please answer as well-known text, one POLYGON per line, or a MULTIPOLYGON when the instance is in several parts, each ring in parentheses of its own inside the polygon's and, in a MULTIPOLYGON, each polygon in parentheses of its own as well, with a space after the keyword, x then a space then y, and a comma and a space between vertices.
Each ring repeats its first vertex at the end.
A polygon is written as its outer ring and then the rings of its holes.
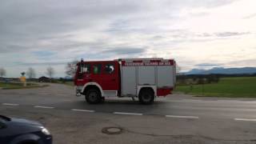
POLYGON ((185 74, 254 74, 256 67, 242 67, 242 68, 223 68, 214 67, 210 70, 193 69, 185 74))

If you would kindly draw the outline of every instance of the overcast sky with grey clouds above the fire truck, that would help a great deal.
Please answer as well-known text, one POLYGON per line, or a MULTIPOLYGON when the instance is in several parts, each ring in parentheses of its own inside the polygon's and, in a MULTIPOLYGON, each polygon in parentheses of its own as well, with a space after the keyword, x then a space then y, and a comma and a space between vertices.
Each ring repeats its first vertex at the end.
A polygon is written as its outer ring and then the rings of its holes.
POLYGON ((256 66, 255 0, 4 0, 0 67, 65 76, 74 59, 174 58, 193 68, 256 66))

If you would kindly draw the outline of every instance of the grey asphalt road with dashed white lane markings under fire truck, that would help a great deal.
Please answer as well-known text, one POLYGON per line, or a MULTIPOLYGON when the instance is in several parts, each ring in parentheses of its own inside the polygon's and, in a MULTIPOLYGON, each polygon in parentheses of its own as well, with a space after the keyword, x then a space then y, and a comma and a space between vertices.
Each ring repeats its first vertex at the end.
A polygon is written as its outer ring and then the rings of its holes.
POLYGON ((173 94, 153 105, 106 98, 89 105, 70 86, 0 90, 0 114, 45 124, 54 143, 256 143, 256 99, 173 94), (102 134, 120 126, 122 134, 102 134))

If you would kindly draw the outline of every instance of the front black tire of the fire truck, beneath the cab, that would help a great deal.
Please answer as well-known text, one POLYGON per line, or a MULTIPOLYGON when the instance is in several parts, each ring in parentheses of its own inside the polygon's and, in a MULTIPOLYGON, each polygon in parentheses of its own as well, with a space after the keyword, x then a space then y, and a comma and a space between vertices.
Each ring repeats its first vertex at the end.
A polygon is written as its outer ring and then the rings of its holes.
POLYGON ((86 92, 86 102, 90 104, 96 104, 101 102, 102 95, 97 89, 90 89, 86 92))

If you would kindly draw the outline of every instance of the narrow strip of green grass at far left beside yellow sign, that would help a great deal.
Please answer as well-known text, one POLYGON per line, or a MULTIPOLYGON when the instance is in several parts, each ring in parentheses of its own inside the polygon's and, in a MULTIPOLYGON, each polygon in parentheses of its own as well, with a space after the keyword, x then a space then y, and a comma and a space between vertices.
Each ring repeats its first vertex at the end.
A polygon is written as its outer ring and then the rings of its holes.
POLYGON ((37 88, 37 87, 45 87, 48 85, 38 85, 35 83, 27 83, 26 86, 23 86, 20 82, 0 82, 0 87, 2 90, 9 90, 9 89, 28 89, 28 88, 37 88))

